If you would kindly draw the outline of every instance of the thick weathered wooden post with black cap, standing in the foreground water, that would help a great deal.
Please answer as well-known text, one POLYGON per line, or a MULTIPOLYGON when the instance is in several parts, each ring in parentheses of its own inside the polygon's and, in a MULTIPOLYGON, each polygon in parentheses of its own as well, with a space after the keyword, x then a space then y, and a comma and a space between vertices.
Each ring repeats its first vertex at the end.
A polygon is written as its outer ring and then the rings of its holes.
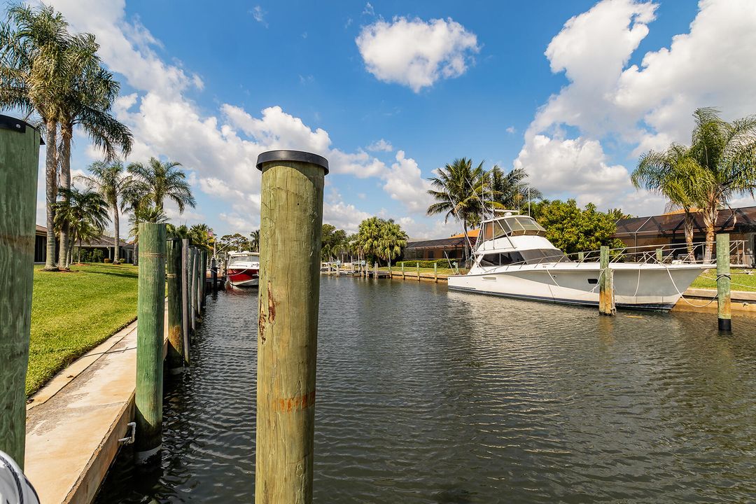
POLYGON ((321 156, 274 150, 262 170, 255 502, 312 502, 321 156))

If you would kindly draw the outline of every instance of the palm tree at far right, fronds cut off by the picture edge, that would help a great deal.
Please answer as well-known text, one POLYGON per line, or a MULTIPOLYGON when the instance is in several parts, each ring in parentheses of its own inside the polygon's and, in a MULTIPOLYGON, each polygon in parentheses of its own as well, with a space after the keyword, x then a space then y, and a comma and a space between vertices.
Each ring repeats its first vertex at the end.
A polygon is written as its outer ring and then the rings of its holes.
POLYGON ((726 122, 719 110, 700 108, 693 113, 690 156, 708 172, 698 181, 705 190, 702 211, 706 228, 705 261, 711 261, 714 226, 720 208, 733 196, 754 196, 756 189, 756 116, 726 122))

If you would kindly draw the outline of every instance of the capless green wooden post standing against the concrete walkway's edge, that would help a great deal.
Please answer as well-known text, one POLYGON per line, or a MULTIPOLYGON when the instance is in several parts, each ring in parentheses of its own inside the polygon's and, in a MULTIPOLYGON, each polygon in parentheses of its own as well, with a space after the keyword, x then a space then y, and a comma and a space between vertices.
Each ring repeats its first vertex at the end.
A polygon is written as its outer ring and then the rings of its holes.
POLYGON ((144 462, 163 442, 163 335, 166 224, 139 224, 135 455, 144 462))

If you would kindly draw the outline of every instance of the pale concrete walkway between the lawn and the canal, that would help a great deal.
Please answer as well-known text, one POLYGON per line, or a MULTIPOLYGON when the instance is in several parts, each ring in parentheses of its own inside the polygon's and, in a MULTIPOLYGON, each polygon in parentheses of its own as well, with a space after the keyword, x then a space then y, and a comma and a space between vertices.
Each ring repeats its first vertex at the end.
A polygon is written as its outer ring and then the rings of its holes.
POLYGON ((89 504, 95 498, 134 417, 136 342, 134 322, 31 398, 25 472, 43 504, 89 504))

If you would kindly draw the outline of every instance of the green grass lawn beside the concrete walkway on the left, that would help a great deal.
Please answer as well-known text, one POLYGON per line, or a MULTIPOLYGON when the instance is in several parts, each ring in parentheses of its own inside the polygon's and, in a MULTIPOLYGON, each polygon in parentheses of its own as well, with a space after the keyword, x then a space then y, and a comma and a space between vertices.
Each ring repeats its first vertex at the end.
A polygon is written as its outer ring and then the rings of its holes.
POLYGON ((73 265, 70 273, 34 268, 26 394, 137 316, 137 267, 73 265))

